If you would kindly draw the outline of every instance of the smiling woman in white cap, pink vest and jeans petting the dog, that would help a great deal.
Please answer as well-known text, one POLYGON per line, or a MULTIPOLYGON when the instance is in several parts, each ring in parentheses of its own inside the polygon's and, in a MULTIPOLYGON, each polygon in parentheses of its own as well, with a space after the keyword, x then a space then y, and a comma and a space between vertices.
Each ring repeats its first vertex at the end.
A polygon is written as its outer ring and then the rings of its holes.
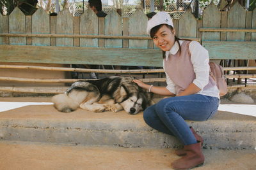
POLYGON ((172 162, 174 169, 200 166, 204 164, 203 139, 185 120, 205 121, 218 110, 219 90, 209 76, 208 52, 196 41, 177 38, 170 15, 163 11, 148 20, 147 32, 163 50, 167 86, 134 82, 149 92, 173 97, 148 107, 144 120, 150 127, 173 135, 184 144, 183 149, 175 152, 182 158, 172 162))

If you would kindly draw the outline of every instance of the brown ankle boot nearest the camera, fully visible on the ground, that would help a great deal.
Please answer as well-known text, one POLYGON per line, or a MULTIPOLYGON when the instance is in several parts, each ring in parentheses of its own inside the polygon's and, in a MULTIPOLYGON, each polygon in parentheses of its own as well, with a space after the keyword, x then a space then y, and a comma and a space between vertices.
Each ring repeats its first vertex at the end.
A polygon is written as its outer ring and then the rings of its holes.
POLYGON ((191 169, 204 164, 204 155, 201 149, 201 142, 185 145, 186 156, 172 162, 173 169, 191 169))

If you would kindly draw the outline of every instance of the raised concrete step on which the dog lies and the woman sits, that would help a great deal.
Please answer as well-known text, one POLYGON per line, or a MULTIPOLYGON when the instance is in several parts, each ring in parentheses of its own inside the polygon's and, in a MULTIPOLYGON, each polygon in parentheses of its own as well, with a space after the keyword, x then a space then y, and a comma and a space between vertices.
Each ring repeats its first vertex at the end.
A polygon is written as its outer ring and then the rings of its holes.
MULTIPOLYGON (((0 101, 46 101, 49 97, 2 97, 0 101)), ((256 146, 256 117, 219 111, 206 122, 191 122, 204 148, 249 149, 256 146)), ((148 127, 143 113, 60 113, 52 105, 24 106, 0 112, 1 141, 65 143, 126 148, 177 148, 179 141, 148 127)))

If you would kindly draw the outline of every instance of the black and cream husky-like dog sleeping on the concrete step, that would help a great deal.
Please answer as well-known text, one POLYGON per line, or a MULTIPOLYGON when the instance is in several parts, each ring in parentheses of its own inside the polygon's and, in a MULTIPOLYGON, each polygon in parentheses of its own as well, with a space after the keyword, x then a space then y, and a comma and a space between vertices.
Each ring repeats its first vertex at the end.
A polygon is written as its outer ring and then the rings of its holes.
POLYGON ((111 76, 99 80, 76 81, 65 94, 52 97, 57 110, 120 111, 132 115, 153 104, 149 92, 134 83, 132 77, 111 76))

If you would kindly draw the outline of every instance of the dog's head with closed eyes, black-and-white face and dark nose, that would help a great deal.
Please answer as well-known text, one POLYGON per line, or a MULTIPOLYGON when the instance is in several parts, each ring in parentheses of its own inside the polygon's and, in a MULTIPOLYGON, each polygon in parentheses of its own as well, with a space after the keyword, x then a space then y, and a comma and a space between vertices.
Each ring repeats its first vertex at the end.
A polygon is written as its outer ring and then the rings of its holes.
POLYGON ((148 92, 132 82, 132 87, 131 85, 121 85, 120 99, 118 103, 120 103, 127 113, 136 115, 150 106, 152 101, 148 92))

